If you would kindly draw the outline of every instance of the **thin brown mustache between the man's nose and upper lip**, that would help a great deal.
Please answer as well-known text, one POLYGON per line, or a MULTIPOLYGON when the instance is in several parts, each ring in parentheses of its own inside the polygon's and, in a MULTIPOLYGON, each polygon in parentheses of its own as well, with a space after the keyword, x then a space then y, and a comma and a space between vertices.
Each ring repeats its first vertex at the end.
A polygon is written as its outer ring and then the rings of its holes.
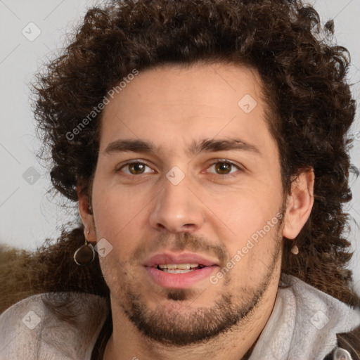
POLYGON ((130 262, 146 259, 148 254, 160 252, 165 249, 174 252, 184 250, 189 252, 201 252, 203 255, 217 257, 221 263, 230 258, 224 245, 219 243, 212 244, 203 236, 197 236, 193 233, 175 233, 169 236, 162 233, 152 241, 144 241, 130 257, 130 262))

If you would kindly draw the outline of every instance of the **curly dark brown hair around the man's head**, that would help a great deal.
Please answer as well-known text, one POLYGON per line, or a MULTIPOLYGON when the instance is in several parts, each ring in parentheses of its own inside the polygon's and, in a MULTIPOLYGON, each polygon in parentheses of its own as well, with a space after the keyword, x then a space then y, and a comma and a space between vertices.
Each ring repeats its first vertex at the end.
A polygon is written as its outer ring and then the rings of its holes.
MULTIPOLYGON (((346 78, 349 53, 332 44, 332 34, 333 23, 322 27, 301 0, 117 0, 91 8, 63 55, 34 84, 53 186, 77 201, 81 182, 91 203, 102 113, 72 139, 69 134, 132 70, 199 62, 250 66, 262 78, 284 191, 304 170, 314 169, 316 179, 314 207, 295 239, 300 253, 291 255, 293 244, 284 241, 282 271, 358 306, 346 268, 352 253, 343 210, 352 198, 348 130, 355 101, 346 78)), ((81 243, 78 230, 59 241, 81 243)))

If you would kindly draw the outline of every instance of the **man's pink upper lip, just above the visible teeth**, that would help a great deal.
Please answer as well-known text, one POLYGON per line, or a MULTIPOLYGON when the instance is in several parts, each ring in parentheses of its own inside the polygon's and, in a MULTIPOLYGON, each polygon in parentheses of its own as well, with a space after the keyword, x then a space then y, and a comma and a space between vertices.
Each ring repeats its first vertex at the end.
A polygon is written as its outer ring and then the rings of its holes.
POLYGON ((162 252, 161 254, 150 257, 143 265, 146 267, 155 267, 158 264, 199 264, 203 266, 219 266, 216 260, 206 259, 205 257, 191 252, 184 252, 181 254, 162 252))

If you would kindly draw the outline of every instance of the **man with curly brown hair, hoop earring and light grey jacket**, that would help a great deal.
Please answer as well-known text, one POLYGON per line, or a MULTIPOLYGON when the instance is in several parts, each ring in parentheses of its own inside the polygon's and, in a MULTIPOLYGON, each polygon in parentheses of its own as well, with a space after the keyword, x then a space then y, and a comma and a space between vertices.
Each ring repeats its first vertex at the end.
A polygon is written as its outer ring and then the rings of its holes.
POLYGON ((360 359, 354 101, 316 25, 300 1, 88 11, 35 110, 83 234, 34 256, 4 359, 360 359))

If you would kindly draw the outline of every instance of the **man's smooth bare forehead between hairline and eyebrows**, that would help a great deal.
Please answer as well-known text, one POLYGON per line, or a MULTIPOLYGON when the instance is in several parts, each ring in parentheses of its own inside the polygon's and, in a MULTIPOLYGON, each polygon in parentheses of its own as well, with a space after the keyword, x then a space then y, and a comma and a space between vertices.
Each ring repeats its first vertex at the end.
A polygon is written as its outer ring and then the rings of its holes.
POLYGON ((105 106, 101 151, 117 139, 145 139, 167 152, 217 136, 258 143, 265 136, 270 141, 265 108, 259 75, 245 66, 215 63, 146 70, 105 106))

